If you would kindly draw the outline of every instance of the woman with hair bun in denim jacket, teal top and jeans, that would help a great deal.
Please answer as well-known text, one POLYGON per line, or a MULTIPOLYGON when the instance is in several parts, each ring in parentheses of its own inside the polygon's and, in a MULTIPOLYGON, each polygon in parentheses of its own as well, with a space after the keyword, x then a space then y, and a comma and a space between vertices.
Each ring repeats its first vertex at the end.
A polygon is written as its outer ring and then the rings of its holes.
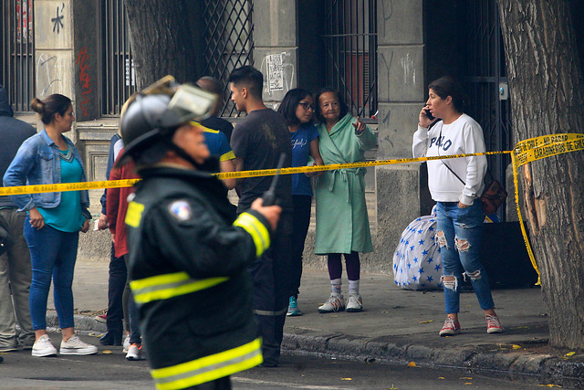
MULTIPOLYGON (((27 139, 18 149, 4 175, 5 186, 58 184, 86 181, 78 150, 63 133, 75 121, 68 97, 54 94, 47 100, 35 98, 31 107, 38 112, 45 129, 27 139)), ((33 356, 57 354, 47 335, 47 297, 54 285, 55 308, 63 333, 61 354, 97 353, 94 345, 81 342, 73 321, 73 270, 77 258, 78 232, 89 229, 88 191, 68 191, 12 195, 26 211, 25 237, 30 249, 33 280, 28 304, 36 342, 33 356)))

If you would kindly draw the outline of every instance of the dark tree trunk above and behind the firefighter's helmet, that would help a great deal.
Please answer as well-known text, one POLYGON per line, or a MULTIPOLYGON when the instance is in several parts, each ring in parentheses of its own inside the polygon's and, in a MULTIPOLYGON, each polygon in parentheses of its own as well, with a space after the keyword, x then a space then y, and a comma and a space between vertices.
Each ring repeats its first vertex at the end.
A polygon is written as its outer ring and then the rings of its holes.
MULTIPOLYGON (((197 26, 183 0, 124 0, 138 90, 163 76, 197 79, 193 37, 197 26)), ((199 59, 200 60, 200 59, 199 59)))

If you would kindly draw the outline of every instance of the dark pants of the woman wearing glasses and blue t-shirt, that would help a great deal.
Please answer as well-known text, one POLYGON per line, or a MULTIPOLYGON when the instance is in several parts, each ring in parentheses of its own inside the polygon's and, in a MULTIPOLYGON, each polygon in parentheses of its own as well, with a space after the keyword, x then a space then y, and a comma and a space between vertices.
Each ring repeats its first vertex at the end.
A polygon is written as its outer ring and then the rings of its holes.
POLYGON ((310 225, 310 208, 312 196, 292 195, 294 214, 292 216, 292 250, 290 252, 290 293, 298 295, 300 279, 302 279, 302 252, 304 242, 307 239, 308 226, 310 225))

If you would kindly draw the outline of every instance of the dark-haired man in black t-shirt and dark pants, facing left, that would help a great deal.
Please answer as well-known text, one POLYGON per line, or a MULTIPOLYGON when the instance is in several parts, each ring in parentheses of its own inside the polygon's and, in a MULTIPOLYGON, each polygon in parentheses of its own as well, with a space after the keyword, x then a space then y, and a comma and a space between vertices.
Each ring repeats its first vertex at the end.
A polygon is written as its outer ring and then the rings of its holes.
MULTIPOLYGON (((237 123, 231 138, 235 170, 274 169, 279 156, 286 153, 290 166, 292 148, 286 120, 268 109, 262 100, 264 77, 253 67, 235 69, 229 76, 231 100, 247 116, 237 123)), ((239 181, 237 211, 245 211, 266 192, 273 177, 250 177, 239 181)), ((277 182, 276 199, 282 207, 272 247, 250 268, 254 281, 254 312, 263 338, 264 364, 276 367, 284 334, 288 306, 289 253, 292 234, 292 181, 289 174, 277 182)))

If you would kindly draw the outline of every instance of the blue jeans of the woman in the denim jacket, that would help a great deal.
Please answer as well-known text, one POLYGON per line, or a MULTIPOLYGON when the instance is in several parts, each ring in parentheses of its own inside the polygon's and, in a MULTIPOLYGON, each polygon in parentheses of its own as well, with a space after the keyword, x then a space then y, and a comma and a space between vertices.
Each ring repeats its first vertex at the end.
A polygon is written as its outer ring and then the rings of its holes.
POLYGON ((36 230, 30 226, 28 216, 24 230, 33 269, 33 281, 28 298, 33 330, 47 329, 47 298, 51 278, 59 327, 72 328, 75 323, 71 286, 79 233, 62 232, 48 225, 36 230))

